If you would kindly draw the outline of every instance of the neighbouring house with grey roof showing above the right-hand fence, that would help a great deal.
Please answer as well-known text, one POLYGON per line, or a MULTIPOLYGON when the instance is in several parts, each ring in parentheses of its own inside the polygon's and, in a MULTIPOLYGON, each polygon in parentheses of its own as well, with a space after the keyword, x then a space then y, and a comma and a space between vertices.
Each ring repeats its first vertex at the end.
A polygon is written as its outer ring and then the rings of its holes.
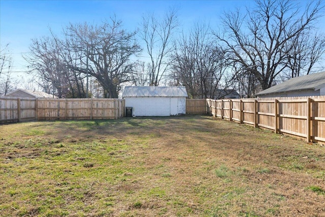
POLYGON ((325 72, 289 79, 263 90, 257 97, 296 97, 325 95, 325 72))

